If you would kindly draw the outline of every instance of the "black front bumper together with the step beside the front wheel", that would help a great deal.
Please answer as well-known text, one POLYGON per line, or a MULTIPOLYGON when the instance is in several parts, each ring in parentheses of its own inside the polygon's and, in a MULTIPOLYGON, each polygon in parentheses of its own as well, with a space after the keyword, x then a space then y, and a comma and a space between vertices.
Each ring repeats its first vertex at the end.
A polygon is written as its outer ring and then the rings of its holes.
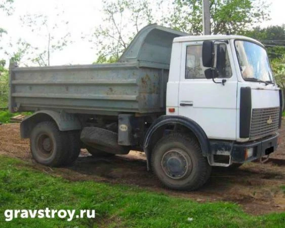
POLYGON ((210 140, 210 165, 229 166, 232 163, 245 163, 273 153, 278 146, 279 133, 245 143, 210 140))

